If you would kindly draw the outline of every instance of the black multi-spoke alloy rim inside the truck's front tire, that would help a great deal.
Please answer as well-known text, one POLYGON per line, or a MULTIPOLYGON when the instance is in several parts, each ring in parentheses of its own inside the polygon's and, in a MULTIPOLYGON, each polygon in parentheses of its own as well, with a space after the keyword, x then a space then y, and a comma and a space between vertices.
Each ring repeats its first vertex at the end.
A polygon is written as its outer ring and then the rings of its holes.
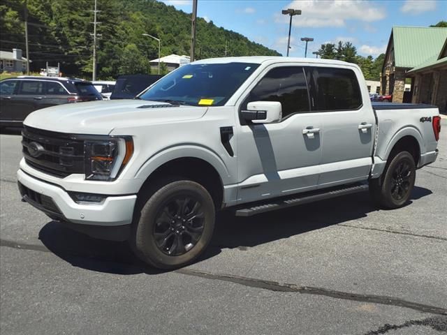
POLYGON ((191 195, 177 195, 168 199, 156 215, 156 246, 166 255, 183 255, 197 244, 204 228, 200 200, 191 195))

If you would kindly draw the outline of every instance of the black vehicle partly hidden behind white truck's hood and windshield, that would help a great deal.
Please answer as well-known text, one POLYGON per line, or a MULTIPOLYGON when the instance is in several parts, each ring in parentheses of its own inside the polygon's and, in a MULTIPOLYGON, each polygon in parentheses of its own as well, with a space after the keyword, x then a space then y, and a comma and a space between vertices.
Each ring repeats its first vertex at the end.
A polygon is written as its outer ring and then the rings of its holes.
POLYGON ((120 75, 110 99, 133 99, 163 75, 120 75))

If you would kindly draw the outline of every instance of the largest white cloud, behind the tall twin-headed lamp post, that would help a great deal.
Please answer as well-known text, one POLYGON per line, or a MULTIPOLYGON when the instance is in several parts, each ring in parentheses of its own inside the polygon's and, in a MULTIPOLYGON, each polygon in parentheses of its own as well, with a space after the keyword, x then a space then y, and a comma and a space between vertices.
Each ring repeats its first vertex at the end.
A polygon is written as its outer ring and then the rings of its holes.
MULTIPOLYGON (((374 3, 361 0, 295 0, 286 8, 302 10, 302 15, 293 18, 296 27, 344 27, 346 20, 374 22, 386 15, 383 8, 374 7, 374 3)), ((276 22, 286 23, 286 15, 275 15, 276 22)))

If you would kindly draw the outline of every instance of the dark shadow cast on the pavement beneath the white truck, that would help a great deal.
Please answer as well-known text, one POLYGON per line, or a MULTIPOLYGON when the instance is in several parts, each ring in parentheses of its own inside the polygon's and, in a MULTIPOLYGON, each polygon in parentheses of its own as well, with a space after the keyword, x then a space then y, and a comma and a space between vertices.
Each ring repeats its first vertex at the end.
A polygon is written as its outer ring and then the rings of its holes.
MULTIPOLYGON (((427 188, 415 186, 411 200, 418 200, 431 193, 427 188)), ((244 251, 270 241, 365 218, 377 210, 369 194, 365 192, 249 218, 235 217, 231 211, 223 211, 217 217, 210 246, 197 262, 218 255, 223 248, 239 248, 244 251)), ((50 252, 75 267, 127 275, 165 272, 140 262, 126 242, 93 239, 54 221, 41 229, 39 239, 50 252)))

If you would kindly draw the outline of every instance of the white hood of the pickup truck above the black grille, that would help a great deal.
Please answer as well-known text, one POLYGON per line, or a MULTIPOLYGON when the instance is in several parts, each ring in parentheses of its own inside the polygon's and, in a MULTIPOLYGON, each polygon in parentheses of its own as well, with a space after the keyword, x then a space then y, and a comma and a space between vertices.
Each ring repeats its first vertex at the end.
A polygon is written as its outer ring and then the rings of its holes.
POLYGON ((158 101, 94 101, 36 110, 24 120, 24 125, 60 133, 108 135, 117 127, 200 119, 206 111, 207 107, 173 106, 158 101))

